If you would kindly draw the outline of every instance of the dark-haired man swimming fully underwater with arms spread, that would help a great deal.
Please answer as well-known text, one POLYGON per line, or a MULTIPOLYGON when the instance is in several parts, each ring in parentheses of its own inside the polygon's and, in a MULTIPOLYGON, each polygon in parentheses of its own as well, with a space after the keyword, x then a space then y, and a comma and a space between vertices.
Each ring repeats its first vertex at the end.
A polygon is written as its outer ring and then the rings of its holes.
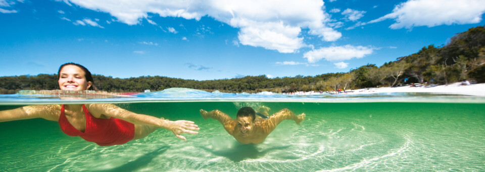
POLYGON ((262 106, 255 112, 251 107, 243 107, 237 111, 235 120, 219 110, 207 112, 201 109, 200 112, 204 119, 212 118, 219 121, 227 133, 243 144, 262 143, 283 120, 294 120, 298 125, 305 120, 305 113, 297 116, 288 109, 282 109, 268 117, 269 110, 268 107, 262 106))

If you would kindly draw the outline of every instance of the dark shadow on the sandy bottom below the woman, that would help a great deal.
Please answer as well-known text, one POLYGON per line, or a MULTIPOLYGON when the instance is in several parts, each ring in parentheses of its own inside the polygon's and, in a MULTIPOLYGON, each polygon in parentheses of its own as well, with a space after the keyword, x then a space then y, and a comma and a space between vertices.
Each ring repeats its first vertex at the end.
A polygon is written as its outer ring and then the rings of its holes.
POLYGON ((152 152, 144 154, 143 156, 140 156, 139 158, 137 158, 133 161, 127 162, 127 163, 125 163, 121 166, 118 166, 118 167, 112 168, 112 169, 100 170, 99 172, 134 171, 134 170, 136 170, 140 167, 146 166, 147 164, 152 162, 153 158, 157 157, 158 155, 163 154, 165 151, 168 150, 168 148, 170 148, 170 146, 163 146, 163 147, 156 149, 152 152))

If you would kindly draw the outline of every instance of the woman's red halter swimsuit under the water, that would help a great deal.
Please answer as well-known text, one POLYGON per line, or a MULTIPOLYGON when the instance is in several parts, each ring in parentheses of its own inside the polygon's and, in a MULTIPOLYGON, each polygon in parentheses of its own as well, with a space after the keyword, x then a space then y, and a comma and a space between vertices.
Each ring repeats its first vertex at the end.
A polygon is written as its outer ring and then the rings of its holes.
POLYGON ((77 130, 67 121, 64 105, 62 105, 59 125, 67 135, 79 136, 100 146, 123 144, 132 140, 135 136, 134 124, 113 117, 110 119, 95 118, 87 111, 84 105, 82 105, 82 109, 86 116, 86 129, 84 132, 77 130))

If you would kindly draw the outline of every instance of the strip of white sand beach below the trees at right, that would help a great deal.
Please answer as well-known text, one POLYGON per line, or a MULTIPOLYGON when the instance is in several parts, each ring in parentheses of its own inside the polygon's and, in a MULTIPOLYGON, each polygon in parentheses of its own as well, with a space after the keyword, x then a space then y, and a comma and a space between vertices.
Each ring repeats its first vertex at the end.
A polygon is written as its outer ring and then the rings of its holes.
POLYGON ((410 85, 405 85, 400 87, 359 89, 359 90, 352 90, 347 94, 435 93, 435 94, 485 96, 485 83, 461 85, 461 82, 455 82, 448 85, 428 85, 428 86, 417 85, 417 86, 418 87, 410 87, 410 85))

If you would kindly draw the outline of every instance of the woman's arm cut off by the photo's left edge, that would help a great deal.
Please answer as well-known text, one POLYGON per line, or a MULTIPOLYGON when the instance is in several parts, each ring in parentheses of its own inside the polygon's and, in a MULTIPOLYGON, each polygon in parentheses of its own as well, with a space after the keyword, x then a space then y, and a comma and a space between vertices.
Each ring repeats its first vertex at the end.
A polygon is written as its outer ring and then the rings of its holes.
POLYGON ((60 108, 55 105, 32 105, 17 109, 0 111, 0 122, 43 118, 51 121, 58 121, 60 108))

